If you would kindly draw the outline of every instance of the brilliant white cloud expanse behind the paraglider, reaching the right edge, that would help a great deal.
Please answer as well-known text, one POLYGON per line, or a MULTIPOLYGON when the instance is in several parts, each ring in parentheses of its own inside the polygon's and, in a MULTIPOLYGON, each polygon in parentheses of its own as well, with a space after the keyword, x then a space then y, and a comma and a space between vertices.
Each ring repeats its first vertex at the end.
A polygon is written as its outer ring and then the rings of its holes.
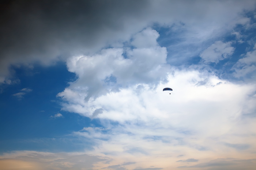
POLYGON ((221 154, 252 158, 251 151, 256 151, 252 139, 256 133, 255 118, 243 117, 255 110, 250 104, 255 100, 250 97, 255 85, 234 84, 196 70, 173 71, 167 82, 155 88, 135 84, 82 105, 65 105, 64 109, 89 117, 102 109, 97 117, 104 129, 87 127, 74 134, 97 144, 90 154, 108 155, 116 164, 129 160, 146 167, 151 162, 151 166, 168 169, 165 163, 159 163, 172 159, 173 166, 178 166, 179 162, 175 162, 180 160, 180 154, 185 155, 182 160, 210 161, 221 154), (205 83, 198 85, 200 81, 205 83), (164 87, 172 87, 172 94, 163 94, 164 87), (249 150, 240 154, 226 143, 249 146, 249 150))

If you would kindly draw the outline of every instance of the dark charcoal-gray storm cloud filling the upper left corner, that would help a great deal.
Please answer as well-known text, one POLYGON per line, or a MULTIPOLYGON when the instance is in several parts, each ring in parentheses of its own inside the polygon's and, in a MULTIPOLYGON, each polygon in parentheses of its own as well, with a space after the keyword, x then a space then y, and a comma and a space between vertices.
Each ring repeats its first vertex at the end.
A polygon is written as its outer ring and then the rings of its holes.
MULTIPOLYGON (((0 17, 0 73, 9 64, 54 60, 94 52, 124 37, 124 22, 139 17, 142 1, 5 1, 0 17)), ((136 30, 137 31, 137 30, 136 30)))

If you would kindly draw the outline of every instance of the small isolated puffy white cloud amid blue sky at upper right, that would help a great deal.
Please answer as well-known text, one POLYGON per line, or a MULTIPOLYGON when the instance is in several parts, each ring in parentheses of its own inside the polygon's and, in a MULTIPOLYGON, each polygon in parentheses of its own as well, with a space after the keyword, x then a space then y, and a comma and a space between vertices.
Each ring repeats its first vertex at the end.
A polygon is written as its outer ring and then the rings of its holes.
POLYGON ((223 43, 222 41, 216 41, 210 47, 200 54, 200 57, 205 63, 218 63, 220 60, 229 58, 233 52, 234 47, 231 47, 231 42, 223 43))

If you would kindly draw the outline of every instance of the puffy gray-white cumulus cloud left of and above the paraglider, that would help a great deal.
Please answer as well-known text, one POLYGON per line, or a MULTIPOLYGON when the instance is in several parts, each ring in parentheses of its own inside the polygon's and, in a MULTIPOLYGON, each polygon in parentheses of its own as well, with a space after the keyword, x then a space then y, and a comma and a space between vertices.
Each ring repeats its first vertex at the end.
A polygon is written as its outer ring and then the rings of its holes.
POLYGON ((117 90, 118 86, 154 84, 164 80, 169 65, 166 64, 166 48, 156 43, 158 36, 158 33, 150 28, 136 34, 132 43, 136 42, 138 48, 126 49, 127 58, 123 56, 123 48, 108 48, 94 56, 69 58, 68 70, 75 72, 78 80, 58 96, 71 103, 80 104, 84 99, 89 100, 91 97, 106 94, 109 90, 117 90), (152 37, 151 34, 156 36, 152 37), (140 41, 147 41, 151 45, 140 46, 140 41))

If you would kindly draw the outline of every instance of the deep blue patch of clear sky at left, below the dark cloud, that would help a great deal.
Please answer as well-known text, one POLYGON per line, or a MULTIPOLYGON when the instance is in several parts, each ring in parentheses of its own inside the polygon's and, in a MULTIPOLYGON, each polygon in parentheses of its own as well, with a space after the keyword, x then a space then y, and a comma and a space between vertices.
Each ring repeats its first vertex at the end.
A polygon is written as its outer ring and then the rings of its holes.
MULTIPOLYGON (((52 67, 35 66, 33 70, 25 67, 13 68, 15 78, 20 83, 12 84, 0 94, 0 143, 2 151, 29 149, 26 141, 34 138, 61 138, 86 126, 99 126, 97 119, 61 111, 56 94, 75 80, 75 75, 67 71, 65 63, 57 63, 52 67), (28 74, 28 73, 35 74, 28 74), (25 90, 24 90, 25 89, 25 90), (27 90, 29 89, 29 90, 27 90), (22 97, 14 94, 24 91, 22 97), (62 116, 56 116, 61 114, 62 116), (26 147, 27 146, 27 147, 26 147), (4 149, 4 150, 3 150, 4 149)), ((67 140, 59 140, 59 146, 67 140), (63 142, 63 143, 61 143, 63 142)), ((50 142, 48 142, 49 145, 50 142)), ((32 144, 31 144, 32 145, 32 144)), ((57 143, 52 144, 57 145, 57 143)), ((32 148, 36 150, 37 144, 32 148)), ((38 147, 42 149, 44 145, 38 147)), ((45 148, 53 148, 46 146, 45 148)), ((59 149, 66 147, 59 147, 59 149)))

